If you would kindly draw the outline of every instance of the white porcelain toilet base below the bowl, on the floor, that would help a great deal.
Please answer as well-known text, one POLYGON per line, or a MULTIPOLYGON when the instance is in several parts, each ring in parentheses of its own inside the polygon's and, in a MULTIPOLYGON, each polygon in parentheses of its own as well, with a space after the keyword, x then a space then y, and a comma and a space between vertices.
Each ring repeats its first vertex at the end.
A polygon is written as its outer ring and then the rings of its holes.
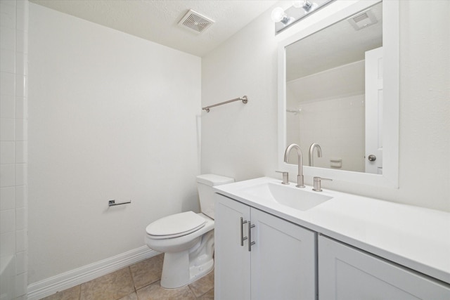
POLYGON ((164 254, 161 287, 177 289, 198 280, 214 269, 214 230, 205 234, 198 247, 164 254))

